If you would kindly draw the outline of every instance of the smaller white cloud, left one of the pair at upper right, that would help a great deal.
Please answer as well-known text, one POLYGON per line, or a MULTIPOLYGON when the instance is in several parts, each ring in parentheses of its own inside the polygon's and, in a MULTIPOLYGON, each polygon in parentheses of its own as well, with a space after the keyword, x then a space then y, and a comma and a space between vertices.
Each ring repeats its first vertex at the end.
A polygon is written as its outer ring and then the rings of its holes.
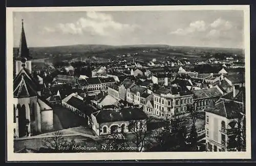
POLYGON ((175 35, 187 35, 194 32, 204 32, 206 31, 207 27, 203 20, 198 20, 195 22, 191 22, 188 27, 185 29, 178 29, 176 31, 170 32, 170 34, 175 35))

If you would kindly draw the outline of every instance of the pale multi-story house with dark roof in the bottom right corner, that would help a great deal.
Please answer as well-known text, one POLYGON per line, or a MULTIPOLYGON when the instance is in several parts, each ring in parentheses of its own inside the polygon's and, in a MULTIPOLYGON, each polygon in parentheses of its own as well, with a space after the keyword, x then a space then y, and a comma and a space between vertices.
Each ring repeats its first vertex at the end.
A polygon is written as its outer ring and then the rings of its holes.
POLYGON ((237 86, 205 109, 206 151, 236 151, 237 131, 243 131, 244 103, 245 88, 237 86))

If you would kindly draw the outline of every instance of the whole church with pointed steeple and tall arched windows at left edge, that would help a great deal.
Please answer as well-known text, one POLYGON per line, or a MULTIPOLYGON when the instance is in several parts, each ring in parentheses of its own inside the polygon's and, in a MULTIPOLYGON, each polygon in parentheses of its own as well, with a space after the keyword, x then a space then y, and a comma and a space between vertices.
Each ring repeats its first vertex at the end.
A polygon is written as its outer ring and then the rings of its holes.
POLYGON ((24 23, 15 60, 13 79, 14 137, 24 137, 53 130, 53 109, 40 97, 40 85, 32 76, 24 23))

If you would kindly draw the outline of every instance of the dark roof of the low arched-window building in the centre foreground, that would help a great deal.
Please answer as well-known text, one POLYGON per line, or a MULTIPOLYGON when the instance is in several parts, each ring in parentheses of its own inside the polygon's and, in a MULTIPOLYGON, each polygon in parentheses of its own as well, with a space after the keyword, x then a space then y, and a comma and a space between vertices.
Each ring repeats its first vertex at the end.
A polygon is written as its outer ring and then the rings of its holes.
POLYGON ((113 109, 100 110, 93 113, 98 123, 143 120, 147 116, 143 110, 139 108, 122 108, 119 111, 113 109))

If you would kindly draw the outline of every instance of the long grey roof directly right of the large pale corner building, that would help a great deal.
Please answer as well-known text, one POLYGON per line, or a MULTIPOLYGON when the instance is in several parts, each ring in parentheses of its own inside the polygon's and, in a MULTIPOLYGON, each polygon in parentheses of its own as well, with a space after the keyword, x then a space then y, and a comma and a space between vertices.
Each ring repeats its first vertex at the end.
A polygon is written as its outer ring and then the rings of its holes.
POLYGON ((195 98, 197 99, 222 96, 217 88, 194 90, 192 93, 194 93, 195 98))

